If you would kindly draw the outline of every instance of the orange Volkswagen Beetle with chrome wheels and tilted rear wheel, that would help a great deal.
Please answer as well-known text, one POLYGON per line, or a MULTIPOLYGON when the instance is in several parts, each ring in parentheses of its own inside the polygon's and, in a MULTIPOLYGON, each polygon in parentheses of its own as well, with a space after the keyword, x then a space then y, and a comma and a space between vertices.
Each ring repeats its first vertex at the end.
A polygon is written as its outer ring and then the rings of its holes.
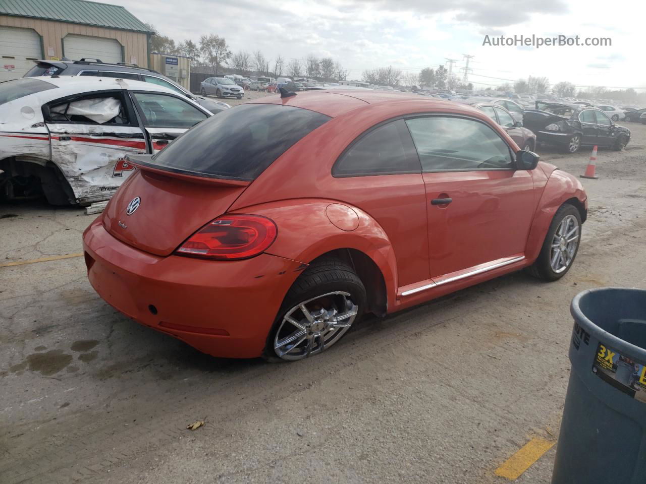
POLYGON ((384 315, 530 268, 562 277, 587 196, 466 105, 359 90, 265 97, 200 123, 83 234, 120 312, 229 358, 297 360, 384 315))

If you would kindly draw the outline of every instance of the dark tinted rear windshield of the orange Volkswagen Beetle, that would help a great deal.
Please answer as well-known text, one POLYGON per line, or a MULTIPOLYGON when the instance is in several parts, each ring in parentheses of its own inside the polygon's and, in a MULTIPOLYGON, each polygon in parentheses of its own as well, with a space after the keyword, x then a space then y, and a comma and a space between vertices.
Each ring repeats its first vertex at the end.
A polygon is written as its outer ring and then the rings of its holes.
POLYGON ((152 159, 187 174, 253 180, 329 119, 293 106, 236 106, 194 126, 152 159))

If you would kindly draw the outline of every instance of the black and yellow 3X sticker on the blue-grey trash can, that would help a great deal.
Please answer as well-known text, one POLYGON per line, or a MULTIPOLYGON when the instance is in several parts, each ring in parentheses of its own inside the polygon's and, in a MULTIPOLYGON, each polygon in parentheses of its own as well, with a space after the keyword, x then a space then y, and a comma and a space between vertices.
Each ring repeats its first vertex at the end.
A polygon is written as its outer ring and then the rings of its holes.
POLYGON ((592 372, 628 396, 646 403, 646 365, 599 343, 592 372))

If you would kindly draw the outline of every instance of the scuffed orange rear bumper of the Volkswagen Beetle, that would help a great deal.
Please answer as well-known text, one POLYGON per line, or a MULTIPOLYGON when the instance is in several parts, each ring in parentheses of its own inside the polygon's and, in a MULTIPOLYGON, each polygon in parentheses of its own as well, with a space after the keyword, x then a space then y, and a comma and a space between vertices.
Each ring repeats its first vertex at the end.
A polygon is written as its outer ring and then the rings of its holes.
POLYGON ((282 300, 304 265, 261 254, 242 261, 154 256, 96 219, 83 234, 88 278, 116 310, 223 358, 262 354, 282 300))

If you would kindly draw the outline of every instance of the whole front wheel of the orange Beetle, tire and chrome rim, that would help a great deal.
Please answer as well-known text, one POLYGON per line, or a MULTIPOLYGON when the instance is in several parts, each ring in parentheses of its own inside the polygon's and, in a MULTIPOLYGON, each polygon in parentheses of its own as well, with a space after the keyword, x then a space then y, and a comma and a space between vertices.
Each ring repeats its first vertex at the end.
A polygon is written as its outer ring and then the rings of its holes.
POLYGON ((569 203, 556 210, 545 236, 541 253, 529 268, 530 274, 543 281, 557 281, 567 274, 581 241, 581 214, 569 203))

